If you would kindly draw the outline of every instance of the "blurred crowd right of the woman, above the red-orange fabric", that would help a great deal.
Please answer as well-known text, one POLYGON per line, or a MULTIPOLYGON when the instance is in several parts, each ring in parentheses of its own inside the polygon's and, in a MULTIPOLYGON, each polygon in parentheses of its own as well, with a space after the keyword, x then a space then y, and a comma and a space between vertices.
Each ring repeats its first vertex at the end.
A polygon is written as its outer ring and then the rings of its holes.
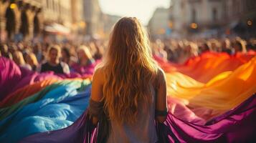
POLYGON ((199 56, 204 52, 225 52, 229 55, 238 52, 256 50, 256 39, 245 40, 240 37, 234 39, 201 39, 188 40, 156 40, 151 44, 155 56, 166 61, 182 64, 193 56, 199 56))

